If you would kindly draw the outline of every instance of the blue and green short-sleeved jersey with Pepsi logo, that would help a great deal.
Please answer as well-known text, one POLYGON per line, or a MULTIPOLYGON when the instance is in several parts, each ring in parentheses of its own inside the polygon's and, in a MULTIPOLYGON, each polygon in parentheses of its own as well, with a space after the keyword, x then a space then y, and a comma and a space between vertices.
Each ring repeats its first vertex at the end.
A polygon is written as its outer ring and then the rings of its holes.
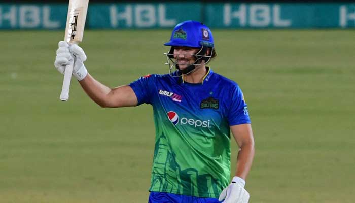
POLYGON ((153 106, 149 190, 218 198, 230 179, 230 126, 251 122, 239 86, 208 68, 198 84, 155 74, 130 87, 138 105, 153 106))

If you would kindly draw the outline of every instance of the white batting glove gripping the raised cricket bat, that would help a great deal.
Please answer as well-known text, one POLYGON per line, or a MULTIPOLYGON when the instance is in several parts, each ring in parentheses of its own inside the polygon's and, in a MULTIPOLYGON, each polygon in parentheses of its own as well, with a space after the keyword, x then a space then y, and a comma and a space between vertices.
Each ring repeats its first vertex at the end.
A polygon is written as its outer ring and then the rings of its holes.
POLYGON ((64 74, 65 66, 74 60, 73 75, 80 81, 83 80, 88 71, 84 65, 86 60, 85 52, 76 44, 69 45, 64 41, 58 43, 57 56, 55 57, 54 66, 61 73, 64 74), (74 57, 75 56, 75 57, 74 57))

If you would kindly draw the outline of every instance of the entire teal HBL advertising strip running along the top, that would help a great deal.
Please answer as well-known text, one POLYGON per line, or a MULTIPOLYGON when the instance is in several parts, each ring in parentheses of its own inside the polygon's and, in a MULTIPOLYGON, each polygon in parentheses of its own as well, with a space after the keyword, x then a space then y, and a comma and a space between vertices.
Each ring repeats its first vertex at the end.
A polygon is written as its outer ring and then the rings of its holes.
MULTIPOLYGON (((64 29, 67 4, 1 4, 0 29, 64 29)), ((353 28, 355 3, 92 3, 86 28, 353 28)))

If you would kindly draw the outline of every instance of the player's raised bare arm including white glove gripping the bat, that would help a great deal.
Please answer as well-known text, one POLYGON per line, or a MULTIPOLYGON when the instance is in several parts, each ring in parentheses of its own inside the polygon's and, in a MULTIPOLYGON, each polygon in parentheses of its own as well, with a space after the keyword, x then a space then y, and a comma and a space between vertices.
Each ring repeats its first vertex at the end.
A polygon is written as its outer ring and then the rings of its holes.
POLYGON ((138 104, 137 97, 128 85, 109 88, 95 80, 87 71, 84 61, 85 52, 78 45, 69 46, 66 42, 59 42, 55 67, 64 73, 65 65, 74 60, 73 75, 78 79, 89 97, 101 107, 130 107, 138 104), (73 57, 73 54, 76 57, 73 57))

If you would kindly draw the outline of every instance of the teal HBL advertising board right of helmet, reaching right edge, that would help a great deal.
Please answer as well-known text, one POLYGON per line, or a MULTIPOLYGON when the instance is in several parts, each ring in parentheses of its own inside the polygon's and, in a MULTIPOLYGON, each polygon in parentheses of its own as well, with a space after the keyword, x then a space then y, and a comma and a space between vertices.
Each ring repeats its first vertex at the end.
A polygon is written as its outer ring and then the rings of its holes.
POLYGON ((223 28, 347 28, 355 4, 207 4, 205 23, 223 28))

